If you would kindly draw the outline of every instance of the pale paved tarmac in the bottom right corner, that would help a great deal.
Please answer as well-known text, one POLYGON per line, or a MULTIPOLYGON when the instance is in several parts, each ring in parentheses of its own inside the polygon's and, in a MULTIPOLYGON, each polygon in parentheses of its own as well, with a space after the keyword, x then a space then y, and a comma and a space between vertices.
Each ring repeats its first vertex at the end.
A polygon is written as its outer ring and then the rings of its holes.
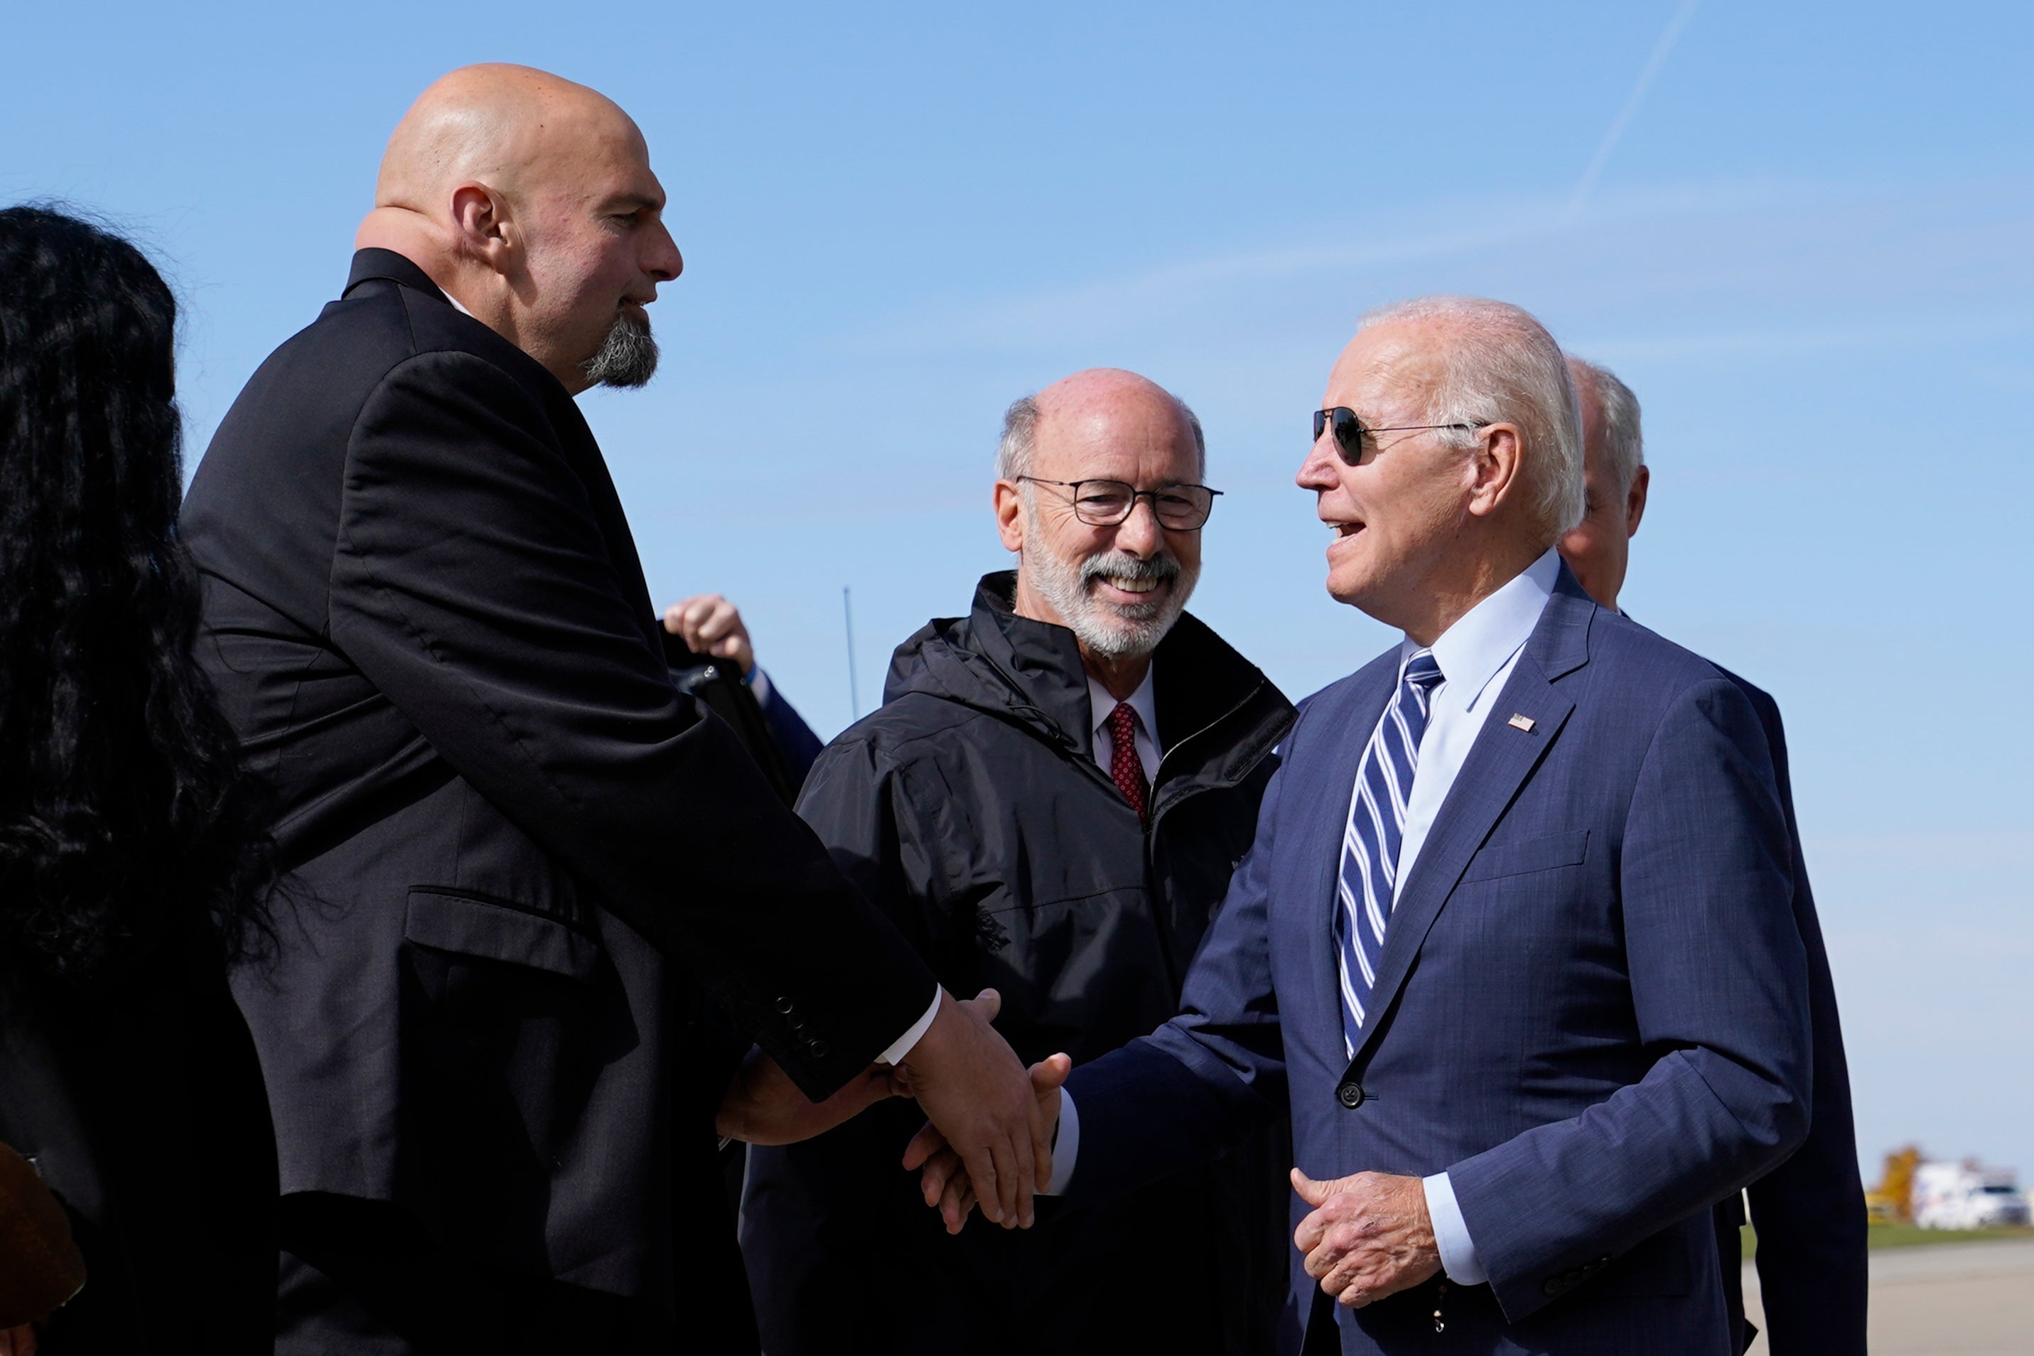
MULTIPOLYGON (((1759 1277, 1745 1262, 1745 1307, 1759 1277)), ((1871 1252, 1871 1356, 2034 1352, 2034 1240, 1942 1242, 1871 1252)), ((1749 1356, 1768 1356, 1766 1338, 1749 1356)))

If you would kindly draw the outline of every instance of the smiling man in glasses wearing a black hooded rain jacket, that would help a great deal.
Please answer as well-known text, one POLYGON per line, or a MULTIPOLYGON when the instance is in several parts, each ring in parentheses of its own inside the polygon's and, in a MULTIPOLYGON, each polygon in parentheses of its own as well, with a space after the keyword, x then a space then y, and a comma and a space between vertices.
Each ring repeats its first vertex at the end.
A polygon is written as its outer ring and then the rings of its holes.
MULTIPOLYGON (((1182 612, 1204 461, 1192 411, 1129 372, 1013 405, 997 516, 1017 571, 897 649, 883 707, 799 797, 950 990, 1003 994, 1027 1063, 1084 1063, 1178 1010, 1294 720, 1182 612)), ((1283 1126, 1104 1208, 1041 1195, 1027 1234, 948 1236, 901 1169, 921 1122, 891 1102, 751 1151, 742 1248, 771 1356, 1271 1350, 1283 1126), (1182 1244, 1163 1267, 1137 1244, 1153 1230, 1182 1244)))

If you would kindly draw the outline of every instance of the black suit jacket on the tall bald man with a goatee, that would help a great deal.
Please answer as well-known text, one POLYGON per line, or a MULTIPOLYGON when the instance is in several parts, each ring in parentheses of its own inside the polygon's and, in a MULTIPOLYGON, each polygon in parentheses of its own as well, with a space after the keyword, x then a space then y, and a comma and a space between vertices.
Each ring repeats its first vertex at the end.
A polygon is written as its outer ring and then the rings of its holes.
POLYGON ((362 250, 226 415, 183 531, 281 801, 281 956, 236 992, 283 1191, 694 1319, 742 1303, 734 1059, 755 1037, 830 1094, 934 980, 673 687, 578 405, 362 250))

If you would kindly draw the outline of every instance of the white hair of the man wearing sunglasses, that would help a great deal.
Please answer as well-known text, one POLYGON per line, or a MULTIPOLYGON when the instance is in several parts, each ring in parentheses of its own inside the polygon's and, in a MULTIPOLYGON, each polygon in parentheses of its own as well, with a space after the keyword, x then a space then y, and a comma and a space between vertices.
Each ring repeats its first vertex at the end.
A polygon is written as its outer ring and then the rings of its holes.
MULTIPOLYGON (((1383 323, 1438 321, 1448 327, 1442 370, 1428 392, 1428 423, 1517 425, 1534 518, 1548 543, 1582 520, 1582 409, 1568 358, 1528 311, 1483 297, 1416 297, 1363 317, 1359 333, 1383 323)), ((1473 431, 1442 431, 1469 449, 1473 431)))

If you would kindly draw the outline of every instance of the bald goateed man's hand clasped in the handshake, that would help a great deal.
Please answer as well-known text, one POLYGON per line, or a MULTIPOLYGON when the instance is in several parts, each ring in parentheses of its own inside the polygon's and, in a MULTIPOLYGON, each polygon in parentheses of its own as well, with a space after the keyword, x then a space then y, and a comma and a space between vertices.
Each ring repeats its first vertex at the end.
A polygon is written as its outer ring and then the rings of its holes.
POLYGON ((1052 1179, 1052 1124, 1017 1053, 989 1025, 1001 1006, 993 988, 966 1002, 940 990, 940 1010, 903 1057, 903 1075, 966 1165, 982 1214, 1031 1228, 1031 1193, 1052 1179))

